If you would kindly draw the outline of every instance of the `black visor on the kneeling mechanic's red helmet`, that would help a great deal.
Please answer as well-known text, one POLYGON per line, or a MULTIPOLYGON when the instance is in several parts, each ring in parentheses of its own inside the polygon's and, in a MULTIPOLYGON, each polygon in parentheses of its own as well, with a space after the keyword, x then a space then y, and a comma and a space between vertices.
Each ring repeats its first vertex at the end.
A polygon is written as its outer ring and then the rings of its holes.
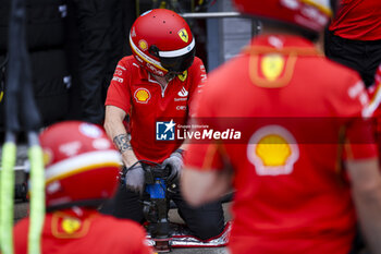
POLYGON ((195 59, 196 47, 194 47, 189 52, 175 58, 163 58, 159 57, 160 63, 163 68, 165 68, 169 72, 179 72, 182 73, 186 71, 195 59))

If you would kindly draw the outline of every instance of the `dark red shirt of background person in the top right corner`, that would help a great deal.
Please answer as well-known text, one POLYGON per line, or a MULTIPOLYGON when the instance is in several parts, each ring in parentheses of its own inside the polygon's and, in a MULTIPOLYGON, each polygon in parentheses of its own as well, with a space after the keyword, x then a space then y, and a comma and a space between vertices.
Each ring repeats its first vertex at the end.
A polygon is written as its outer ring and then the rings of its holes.
POLYGON ((381 39, 381 1, 342 0, 330 31, 346 39, 381 39))

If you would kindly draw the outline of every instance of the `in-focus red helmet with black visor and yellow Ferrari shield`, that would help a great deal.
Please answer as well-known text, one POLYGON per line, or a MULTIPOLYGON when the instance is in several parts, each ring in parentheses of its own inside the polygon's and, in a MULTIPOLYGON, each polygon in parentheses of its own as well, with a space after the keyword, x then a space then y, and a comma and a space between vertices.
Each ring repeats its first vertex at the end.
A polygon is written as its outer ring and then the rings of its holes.
POLYGON ((130 31, 130 45, 139 64, 158 76, 182 73, 195 58, 195 38, 188 24, 167 9, 150 10, 137 17, 130 31))

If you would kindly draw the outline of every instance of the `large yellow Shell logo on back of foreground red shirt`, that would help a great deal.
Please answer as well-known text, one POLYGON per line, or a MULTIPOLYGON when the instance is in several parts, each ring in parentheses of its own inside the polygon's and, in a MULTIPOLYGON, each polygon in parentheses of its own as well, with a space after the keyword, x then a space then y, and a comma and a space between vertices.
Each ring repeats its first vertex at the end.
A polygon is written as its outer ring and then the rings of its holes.
POLYGON ((286 129, 267 125, 251 135, 247 158, 258 176, 290 174, 299 158, 299 148, 286 129))

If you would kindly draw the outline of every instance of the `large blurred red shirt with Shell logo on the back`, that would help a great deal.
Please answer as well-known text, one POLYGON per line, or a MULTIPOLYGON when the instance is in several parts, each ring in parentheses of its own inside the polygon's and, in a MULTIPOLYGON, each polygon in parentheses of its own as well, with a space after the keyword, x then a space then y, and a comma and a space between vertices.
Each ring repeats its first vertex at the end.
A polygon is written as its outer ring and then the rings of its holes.
MULTIPOLYGON (((346 254, 356 216, 342 154, 377 156, 373 144, 339 142, 342 126, 362 119, 364 84, 300 37, 261 36, 249 51, 210 75, 196 114, 211 129, 241 130, 243 140, 193 143, 185 164, 201 171, 221 170, 223 161, 233 166, 233 254, 346 254), (329 128, 310 133, 300 125, 309 119, 329 128), (314 134, 336 140, 308 144, 314 134)), ((366 128, 346 129, 347 137, 371 140, 366 128)))

